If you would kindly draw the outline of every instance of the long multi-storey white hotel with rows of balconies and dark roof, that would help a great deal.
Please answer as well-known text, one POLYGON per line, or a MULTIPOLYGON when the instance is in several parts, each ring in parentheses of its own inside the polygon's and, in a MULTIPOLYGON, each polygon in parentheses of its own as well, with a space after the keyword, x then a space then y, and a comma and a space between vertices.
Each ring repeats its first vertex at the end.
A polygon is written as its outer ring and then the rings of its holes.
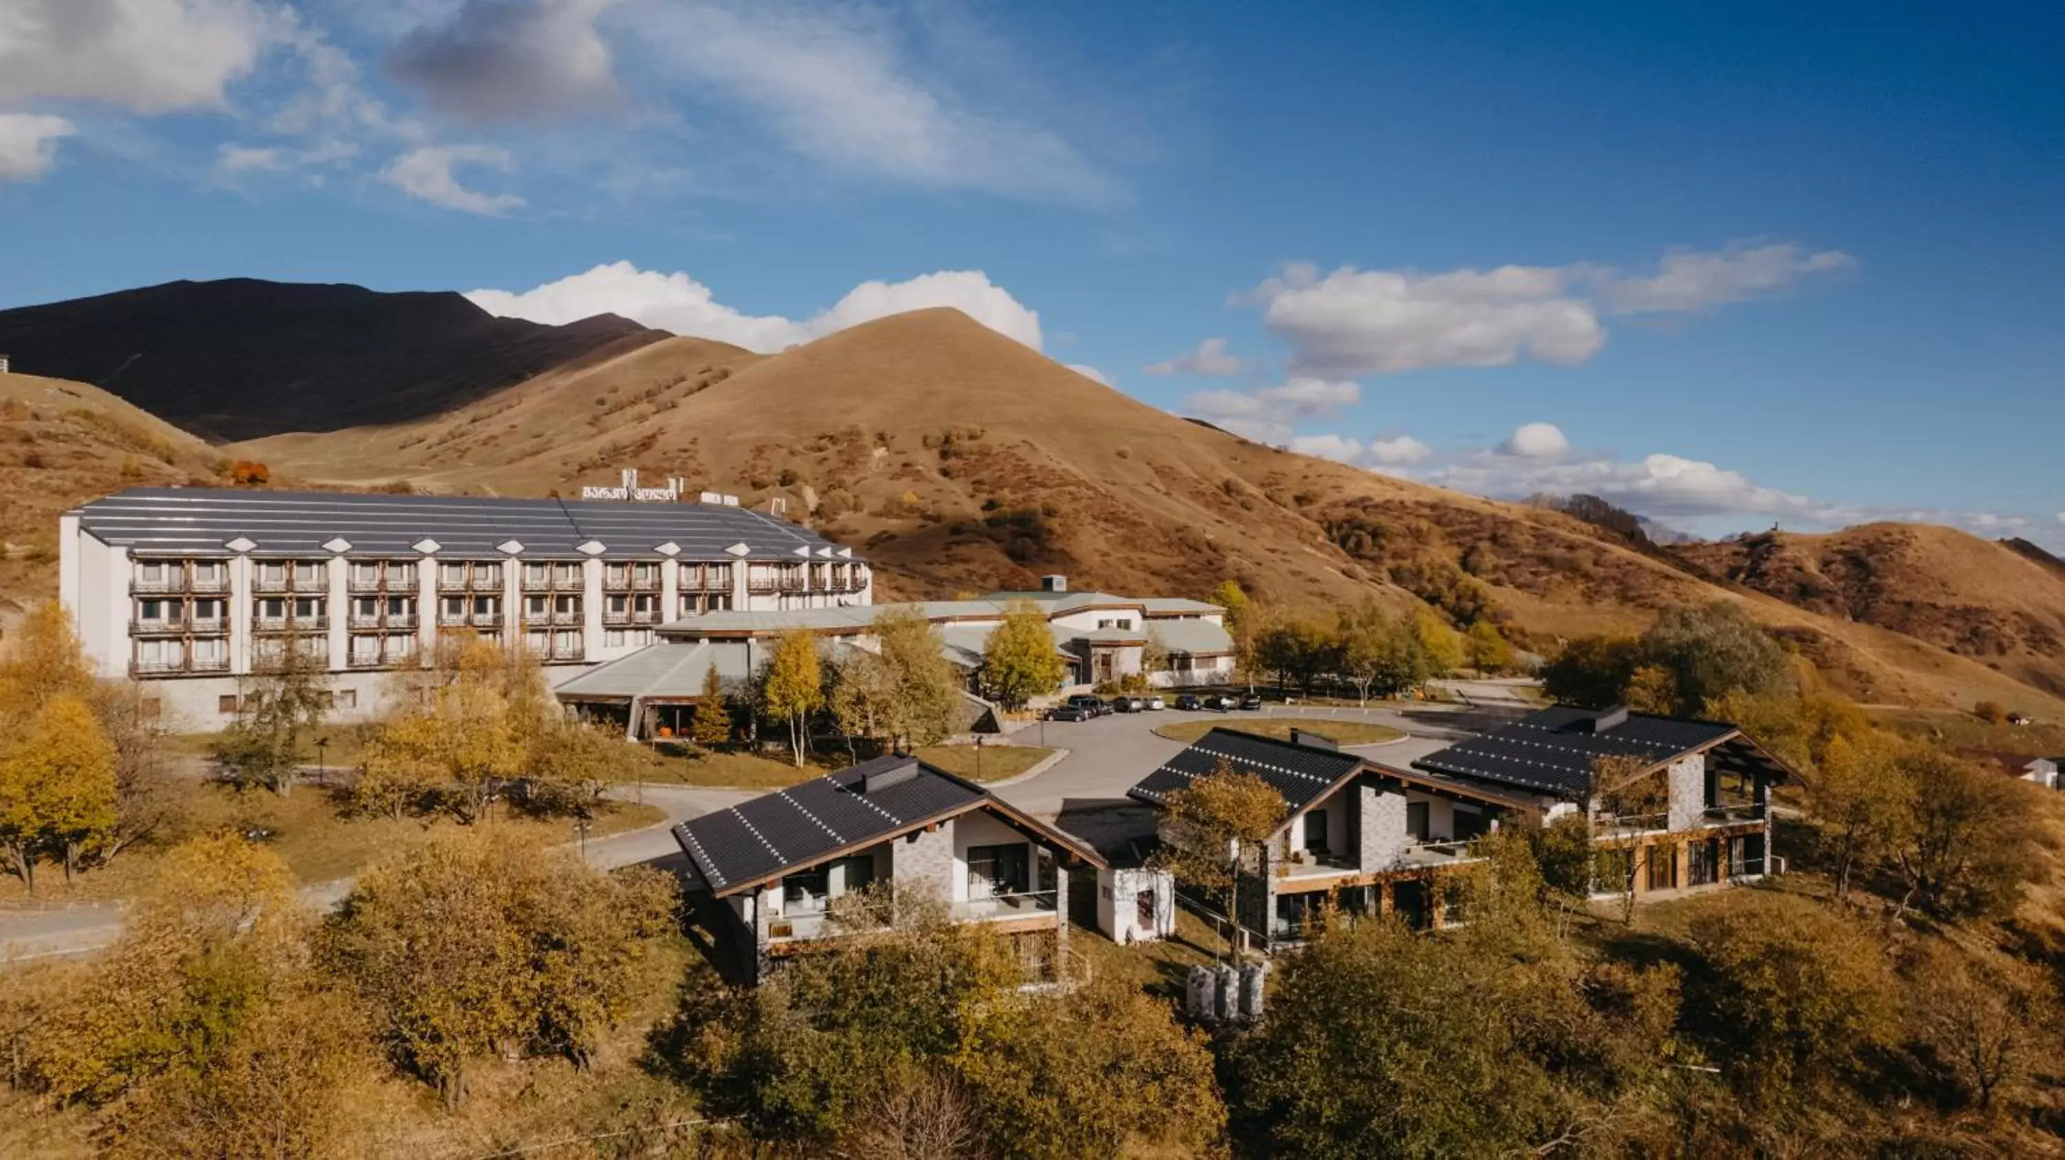
POLYGON ((873 603, 851 549, 735 500, 634 504, 138 487, 60 520, 58 594, 103 677, 215 729, 289 648, 339 718, 440 634, 527 648, 553 683, 710 611, 873 603))

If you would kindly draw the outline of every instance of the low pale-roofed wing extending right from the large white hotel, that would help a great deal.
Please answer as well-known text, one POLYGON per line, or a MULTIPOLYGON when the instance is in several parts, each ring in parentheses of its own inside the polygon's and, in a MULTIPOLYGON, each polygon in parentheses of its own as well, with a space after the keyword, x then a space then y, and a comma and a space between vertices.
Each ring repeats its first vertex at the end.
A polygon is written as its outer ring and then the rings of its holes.
POLYGON ((712 611, 659 625, 657 642, 632 656, 603 665, 558 687, 562 702, 593 718, 617 720, 632 737, 681 735, 702 683, 717 669, 727 691, 748 685, 772 654, 776 640, 795 630, 820 638, 830 656, 849 648, 876 650, 876 617, 915 613, 940 630, 946 658, 962 671, 971 691, 971 720, 989 710, 975 700, 983 646, 1012 605, 1028 601, 1047 615, 1055 652, 1068 677, 1055 691, 1088 689, 1103 681, 1144 675, 1156 687, 1225 685, 1233 681, 1233 638, 1225 609, 1171 597, 1113 597, 1070 592, 1068 580, 1047 576, 1037 590, 989 592, 973 601, 917 601, 904 605, 843 605, 812 609, 712 611), (1167 665, 1146 671, 1148 642, 1167 665))

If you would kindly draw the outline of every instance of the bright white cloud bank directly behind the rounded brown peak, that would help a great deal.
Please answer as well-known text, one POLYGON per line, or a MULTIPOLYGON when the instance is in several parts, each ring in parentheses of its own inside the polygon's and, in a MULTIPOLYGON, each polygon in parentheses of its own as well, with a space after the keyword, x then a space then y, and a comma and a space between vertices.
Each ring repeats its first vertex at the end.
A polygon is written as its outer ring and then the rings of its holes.
POLYGON ((781 351, 873 318, 950 305, 1008 339, 1041 349, 1039 312, 1022 305, 981 270, 940 270, 902 283, 861 283, 832 308, 805 320, 743 314, 717 301, 710 287, 686 272, 640 270, 630 262, 595 266, 520 293, 477 289, 467 297, 491 314, 551 324, 593 314, 622 314, 646 326, 752 351, 781 351))

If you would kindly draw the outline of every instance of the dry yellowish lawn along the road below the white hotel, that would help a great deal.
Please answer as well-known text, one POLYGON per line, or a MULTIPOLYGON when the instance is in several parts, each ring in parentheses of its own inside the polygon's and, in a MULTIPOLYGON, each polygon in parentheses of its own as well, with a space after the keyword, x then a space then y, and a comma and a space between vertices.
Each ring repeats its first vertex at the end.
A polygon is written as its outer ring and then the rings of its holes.
MULTIPOLYGON (((180 791, 186 795, 186 817, 176 826, 171 840, 223 830, 262 834, 258 840, 273 848, 293 871, 293 879, 304 885, 355 875, 384 855, 419 846, 432 834, 458 826, 448 817, 403 817, 399 821, 392 817, 345 817, 339 813, 337 797, 314 784, 295 786, 289 797, 264 791, 237 793, 215 782, 180 782, 180 791)), ((589 838, 642 830, 665 819, 667 811, 657 805, 605 803, 589 824, 589 838)), ((498 809, 487 826, 531 830, 547 842, 576 838, 574 821, 568 817, 533 819, 498 809)), ((0 877, 0 908, 130 898, 151 881, 161 848, 153 844, 124 850, 107 867, 78 875, 72 885, 64 883, 62 867, 43 863, 37 867, 33 902, 21 879, 0 877)))

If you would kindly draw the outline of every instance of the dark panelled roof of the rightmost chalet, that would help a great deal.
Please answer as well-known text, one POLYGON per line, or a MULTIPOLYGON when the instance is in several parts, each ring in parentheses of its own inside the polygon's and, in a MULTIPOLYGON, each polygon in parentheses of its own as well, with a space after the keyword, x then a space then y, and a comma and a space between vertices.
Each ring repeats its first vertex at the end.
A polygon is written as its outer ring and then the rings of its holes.
POLYGON ((1483 737, 1429 753, 1412 766, 1576 799, 1590 793, 1592 770, 1600 758, 1631 755, 1664 764, 1737 733, 1733 724, 1716 720, 1640 712, 1613 722, 1609 716, 1613 712, 1545 708, 1483 737), (1594 722, 1602 724, 1596 733, 1594 722))

